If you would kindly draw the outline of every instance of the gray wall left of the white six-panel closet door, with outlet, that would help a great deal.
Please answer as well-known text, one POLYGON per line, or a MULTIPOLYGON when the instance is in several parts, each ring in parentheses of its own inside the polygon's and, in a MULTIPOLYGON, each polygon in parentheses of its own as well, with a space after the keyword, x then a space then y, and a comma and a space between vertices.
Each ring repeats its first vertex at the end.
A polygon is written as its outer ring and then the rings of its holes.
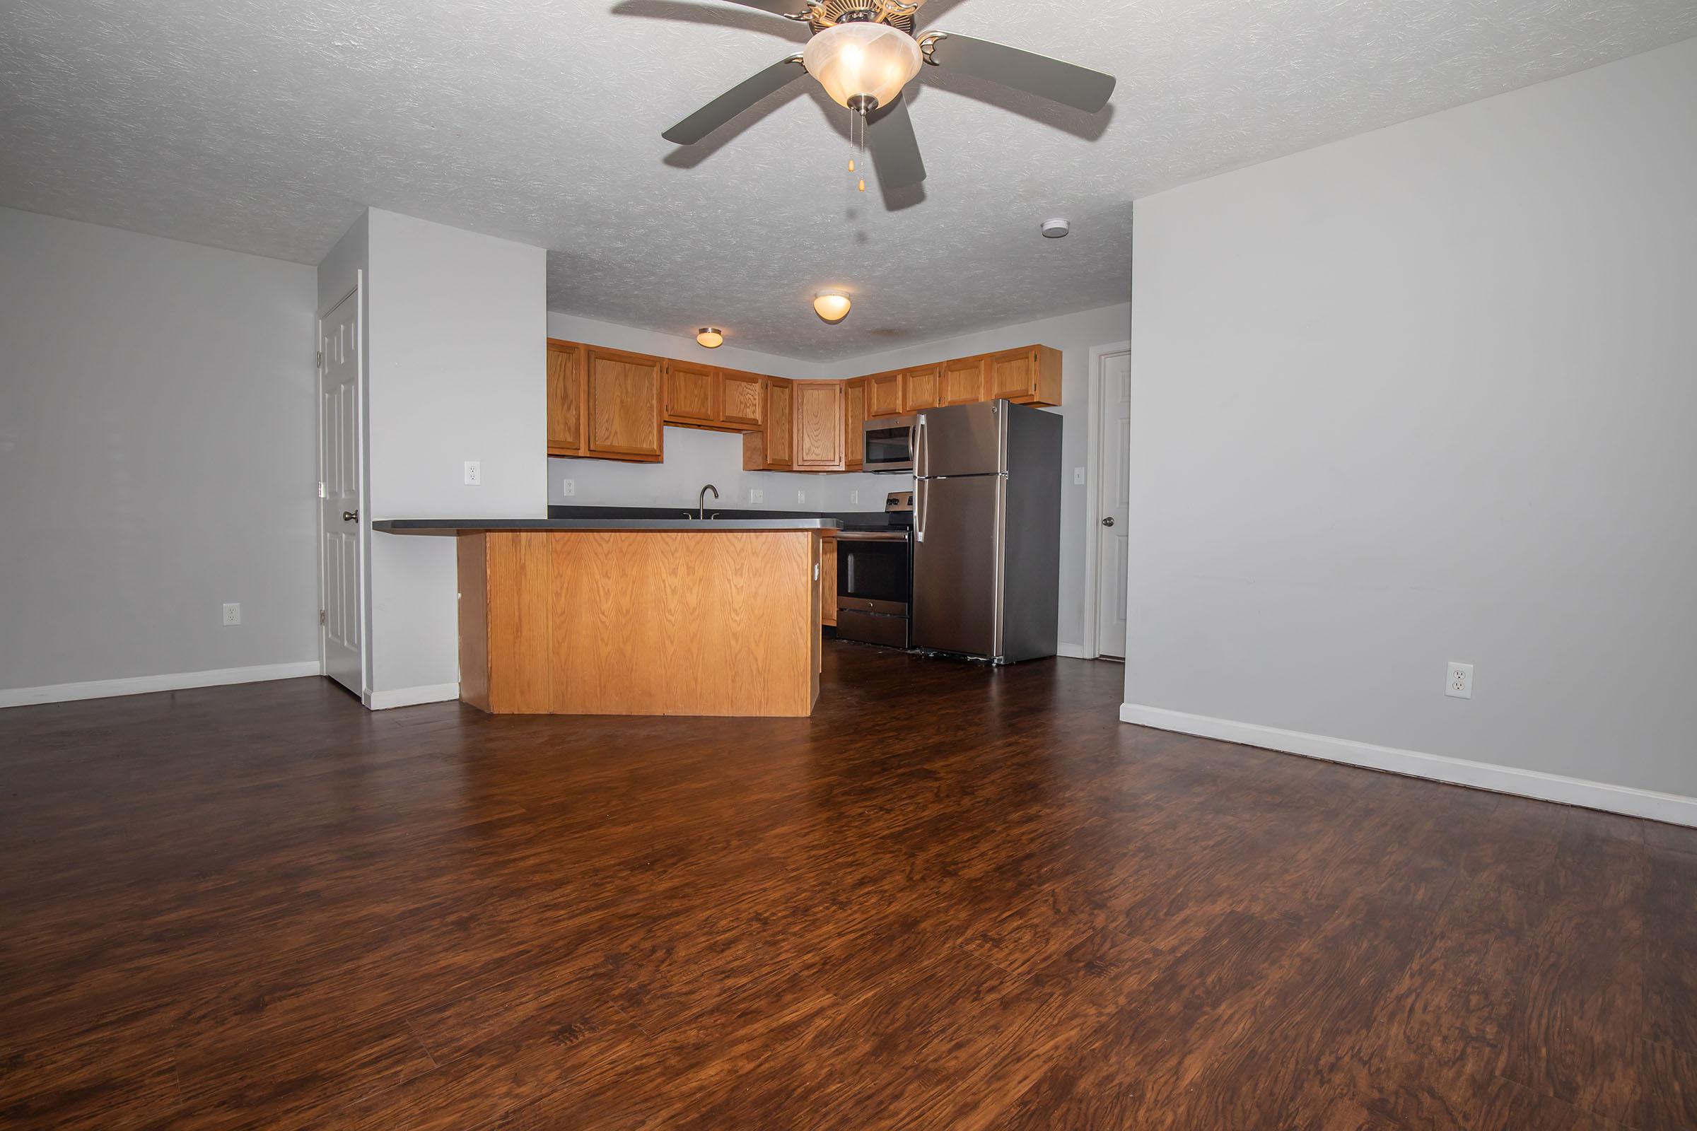
POLYGON ((312 275, 0 209, 0 688, 317 660, 312 275))

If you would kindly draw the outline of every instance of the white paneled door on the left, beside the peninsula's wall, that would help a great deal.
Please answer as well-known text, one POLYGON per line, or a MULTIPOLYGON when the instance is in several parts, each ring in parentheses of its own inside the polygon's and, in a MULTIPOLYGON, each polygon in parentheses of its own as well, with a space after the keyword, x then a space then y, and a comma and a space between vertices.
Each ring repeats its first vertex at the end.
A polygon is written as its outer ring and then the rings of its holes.
POLYGON ((360 292, 319 319, 319 349, 321 656, 324 675, 360 695, 360 292))

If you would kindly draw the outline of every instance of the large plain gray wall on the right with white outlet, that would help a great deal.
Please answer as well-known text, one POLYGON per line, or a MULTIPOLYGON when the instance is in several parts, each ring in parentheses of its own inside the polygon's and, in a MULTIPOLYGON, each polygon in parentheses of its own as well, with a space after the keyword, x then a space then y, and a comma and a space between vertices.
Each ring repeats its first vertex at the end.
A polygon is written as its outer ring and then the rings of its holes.
POLYGON ((1697 795, 1692 107, 1697 41, 1137 203, 1127 702, 1697 795))

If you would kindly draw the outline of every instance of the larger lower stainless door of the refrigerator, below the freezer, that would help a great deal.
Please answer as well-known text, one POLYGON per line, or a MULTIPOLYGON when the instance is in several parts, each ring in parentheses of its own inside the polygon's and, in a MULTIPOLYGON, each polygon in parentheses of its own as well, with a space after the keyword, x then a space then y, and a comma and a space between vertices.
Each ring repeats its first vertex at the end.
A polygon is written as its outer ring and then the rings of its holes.
POLYGON ((915 483, 915 648, 1000 655, 1006 483, 1000 475, 915 483))

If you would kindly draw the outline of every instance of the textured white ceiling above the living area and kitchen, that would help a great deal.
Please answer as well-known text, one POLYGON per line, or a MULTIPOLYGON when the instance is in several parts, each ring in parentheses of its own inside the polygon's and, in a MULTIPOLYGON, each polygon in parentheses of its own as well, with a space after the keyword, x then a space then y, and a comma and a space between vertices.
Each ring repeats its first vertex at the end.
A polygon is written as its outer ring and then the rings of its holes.
POLYGON ((0 203, 300 263, 377 205, 546 246, 557 310, 840 358, 1123 302, 1132 198, 1697 36, 1697 3, 932 0, 920 25, 1120 85, 1088 117, 925 68, 930 180, 884 200, 806 83, 660 139, 804 41, 718 0, 0 0, 0 203), (857 295, 840 326, 825 285, 857 295))

